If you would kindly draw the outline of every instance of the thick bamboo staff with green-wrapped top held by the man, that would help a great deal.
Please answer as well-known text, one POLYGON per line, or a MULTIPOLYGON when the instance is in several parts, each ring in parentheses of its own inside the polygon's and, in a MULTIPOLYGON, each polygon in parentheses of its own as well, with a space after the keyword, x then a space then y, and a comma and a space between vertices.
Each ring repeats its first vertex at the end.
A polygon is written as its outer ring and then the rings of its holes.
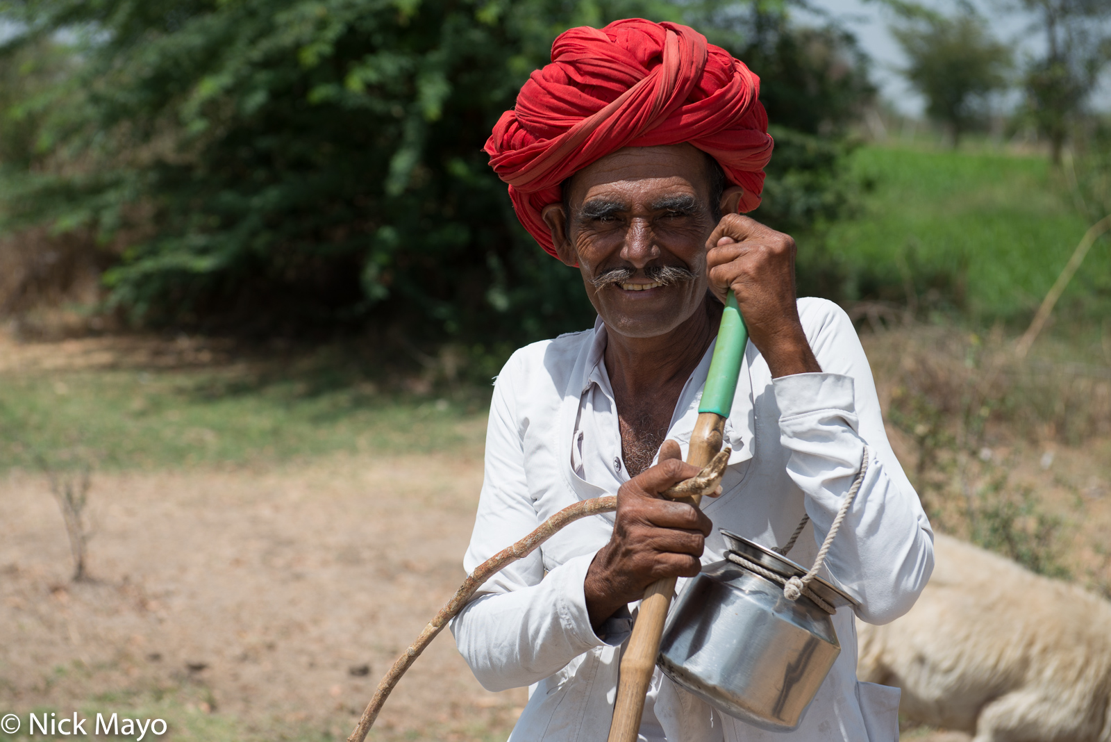
MULTIPOLYGON (((749 341, 741 310, 732 290, 725 300, 725 310, 718 329, 718 344, 713 349, 710 372, 707 374, 702 401, 698 408, 698 420, 691 433, 687 463, 705 467, 721 450, 725 418, 733 407, 737 378, 741 371, 741 357, 749 341)), ((685 498, 698 507, 702 495, 685 498)), ((609 742, 637 742, 640 718, 644 713, 644 696, 652 682, 655 658, 660 653, 663 622, 668 618, 671 598, 675 592, 677 578, 658 580, 644 591, 640 602, 637 622, 629 638, 629 645, 621 658, 621 674, 618 681, 618 698, 613 705, 613 721, 610 724, 609 742)))

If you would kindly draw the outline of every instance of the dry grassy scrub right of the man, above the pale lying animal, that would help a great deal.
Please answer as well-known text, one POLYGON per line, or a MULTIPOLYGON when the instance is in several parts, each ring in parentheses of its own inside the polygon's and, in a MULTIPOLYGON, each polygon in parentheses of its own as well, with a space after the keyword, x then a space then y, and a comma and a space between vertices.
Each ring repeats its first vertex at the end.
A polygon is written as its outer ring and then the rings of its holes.
POLYGON ((889 434, 934 528, 1111 595, 1111 368, 1000 334, 863 335, 889 434))

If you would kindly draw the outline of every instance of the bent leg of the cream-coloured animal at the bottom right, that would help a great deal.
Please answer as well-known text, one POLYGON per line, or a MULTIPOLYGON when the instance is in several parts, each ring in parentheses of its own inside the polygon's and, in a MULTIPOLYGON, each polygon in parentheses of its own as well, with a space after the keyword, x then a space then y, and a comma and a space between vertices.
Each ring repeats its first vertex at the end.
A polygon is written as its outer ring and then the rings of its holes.
POLYGON ((1094 742, 1094 730, 1084 721, 1065 699, 1034 689, 1014 691, 980 710, 972 742, 1094 742))

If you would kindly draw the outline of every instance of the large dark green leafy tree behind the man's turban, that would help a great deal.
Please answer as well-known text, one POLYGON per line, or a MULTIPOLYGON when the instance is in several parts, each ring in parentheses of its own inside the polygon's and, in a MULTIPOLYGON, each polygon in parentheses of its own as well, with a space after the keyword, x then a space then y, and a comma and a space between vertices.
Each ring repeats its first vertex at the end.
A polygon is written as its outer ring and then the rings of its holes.
MULTIPOLYGON (((514 342, 578 329, 592 317, 580 279, 531 243, 481 146, 559 31, 718 4, 0 2, 21 24, 6 59, 66 39, 71 66, 37 88, 34 157, 0 160, 0 225, 117 245, 111 301, 151 324, 514 342)), ((752 66, 782 146, 760 213, 807 228, 841 203, 839 150, 817 137, 833 129, 813 111, 847 74, 837 94, 859 99, 863 78, 848 39, 811 43, 777 12, 767 49, 730 38, 777 70, 752 66)))

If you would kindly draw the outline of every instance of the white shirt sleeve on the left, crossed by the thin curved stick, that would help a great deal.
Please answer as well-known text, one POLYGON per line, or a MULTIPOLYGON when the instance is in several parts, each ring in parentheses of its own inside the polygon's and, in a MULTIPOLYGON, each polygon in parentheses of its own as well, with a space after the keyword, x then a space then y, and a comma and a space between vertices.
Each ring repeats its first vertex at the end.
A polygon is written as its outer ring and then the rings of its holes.
MULTIPOLYGON (((470 574, 540 523, 529 495, 522 444, 527 420, 516 411, 514 359, 494 383, 487 429, 486 472, 471 543, 470 574)), ((544 574, 540 550, 490 578, 451 621, 459 652, 490 691, 531 685, 583 652, 622 635, 595 635, 583 583, 594 554, 570 559, 544 574)))

